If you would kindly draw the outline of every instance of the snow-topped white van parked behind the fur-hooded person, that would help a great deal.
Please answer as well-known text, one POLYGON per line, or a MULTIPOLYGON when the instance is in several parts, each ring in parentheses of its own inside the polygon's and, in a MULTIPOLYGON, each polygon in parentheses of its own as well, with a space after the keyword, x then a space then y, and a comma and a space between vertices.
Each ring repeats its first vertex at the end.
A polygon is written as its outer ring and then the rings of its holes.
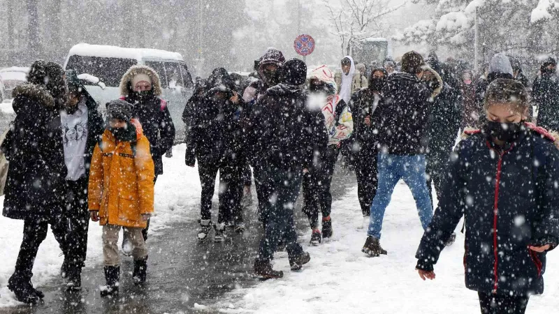
MULTIPOLYGON (((119 98, 122 75, 131 66, 141 64, 153 68, 161 77, 161 88, 176 128, 175 142, 184 141, 182 111, 192 94, 192 77, 187 63, 177 52, 154 49, 122 48, 106 45, 78 44, 71 48, 64 63, 81 77, 99 78, 99 83, 86 83, 89 94, 105 110, 105 104, 119 98)), ((92 80, 86 80, 92 81, 92 80)))

